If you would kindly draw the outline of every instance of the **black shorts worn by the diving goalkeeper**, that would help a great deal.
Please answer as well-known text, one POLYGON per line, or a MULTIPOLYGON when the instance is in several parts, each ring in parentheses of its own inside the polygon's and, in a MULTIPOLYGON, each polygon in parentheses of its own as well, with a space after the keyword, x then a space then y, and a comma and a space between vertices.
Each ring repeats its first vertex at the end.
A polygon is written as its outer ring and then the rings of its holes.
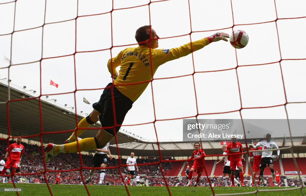
MULTIPOLYGON (((102 127, 112 127, 114 126, 114 113, 113 113, 113 99, 111 92, 111 85, 113 83, 109 83, 104 89, 100 100, 94 104, 92 107, 100 112, 99 120, 102 127), (107 88, 109 87, 109 88, 107 88)), ((133 102, 123 95, 116 87, 113 87, 114 91, 114 102, 115 102, 115 112, 116 112, 116 121, 117 126, 116 133, 119 131, 121 124, 124 121, 126 113, 132 108, 133 102)), ((114 135, 114 128, 106 128, 104 129, 106 132, 114 135)))

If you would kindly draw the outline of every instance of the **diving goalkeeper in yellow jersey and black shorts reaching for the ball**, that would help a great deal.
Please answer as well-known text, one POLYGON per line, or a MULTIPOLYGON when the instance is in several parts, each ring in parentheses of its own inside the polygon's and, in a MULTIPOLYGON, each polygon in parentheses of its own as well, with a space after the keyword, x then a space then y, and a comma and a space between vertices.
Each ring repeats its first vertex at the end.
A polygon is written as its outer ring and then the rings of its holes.
POLYGON ((79 122, 65 144, 49 143, 47 145, 46 163, 58 153, 78 152, 76 140, 79 139, 77 136, 80 136, 86 128, 98 121, 103 126, 98 134, 95 137, 82 139, 78 143, 80 151, 104 147, 114 137, 115 132, 119 131, 126 113, 147 88, 160 65, 187 56, 211 42, 219 40, 227 42, 229 37, 226 33, 218 32, 178 48, 156 49, 158 48, 159 36, 155 30, 149 25, 137 29, 135 38, 138 47, 124 49, 108 61, 107 67, 114 81, 106 86, 100 100, 92 105, 94 110, 79 122), (119 73, 116 71, 118 66, 120 66, 119 73), (112 97, 114 97, 114 105, 112 97))

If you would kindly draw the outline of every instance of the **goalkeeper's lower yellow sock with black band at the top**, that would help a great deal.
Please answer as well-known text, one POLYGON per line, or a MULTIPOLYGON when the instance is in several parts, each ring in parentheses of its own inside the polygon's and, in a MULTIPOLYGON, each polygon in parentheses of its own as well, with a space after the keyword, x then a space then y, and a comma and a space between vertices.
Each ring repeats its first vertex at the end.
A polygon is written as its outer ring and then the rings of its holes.
MULTIPOLYGON (((96 137, 90 137, 80 140, 79 141, 80 151, 88 151, 91 149, 101 148, 98 139, 95 138, 96 137)), ((77 147, 77 142, 58 145, 53 151, 54 154, 58 154, 60 152, 62 153, 79 152, 77 147)))

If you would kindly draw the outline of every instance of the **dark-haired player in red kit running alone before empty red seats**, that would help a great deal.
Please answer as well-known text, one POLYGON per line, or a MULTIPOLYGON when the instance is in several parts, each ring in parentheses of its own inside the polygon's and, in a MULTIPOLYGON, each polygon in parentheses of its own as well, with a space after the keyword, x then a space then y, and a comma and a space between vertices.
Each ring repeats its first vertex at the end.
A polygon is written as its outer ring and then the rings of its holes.
POLYGON ((191 160, 195 160, 193 162, 193 165, 190 169, 189 175, 188 175, 188 184, 186 185, 191 186, 191 178, 192 178, 192 173, 196 171, 196 173, 198 174, 196 176, 196 184, 195 187, 198 185, 199 181, 200 181, 200 176, 204 170, 205 167, 205 162, 204 162, 204 157, 206 157, 205 152, 200 149, 200 143, 196 142, 194 143, 194 148, 196 149, 195 151, 193 151, 192 156, 188 159, 187 161, 187 165, 189 165, 189 162, 191 160))

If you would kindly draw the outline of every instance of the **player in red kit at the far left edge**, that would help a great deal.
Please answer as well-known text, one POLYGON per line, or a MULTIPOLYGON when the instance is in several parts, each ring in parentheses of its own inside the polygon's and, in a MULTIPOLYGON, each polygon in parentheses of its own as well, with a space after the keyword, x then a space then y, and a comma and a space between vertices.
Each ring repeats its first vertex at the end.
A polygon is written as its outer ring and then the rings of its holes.
MULTIPOLYGON (((21 160, 21 156, 24 153, 24 146, 21 144, 22 138, 18 137, 16 143, 12 143, 6 148, 6 154, 4 156, 6 160, 4 168, 0 174, 0 176, 4 176, 5 172, 9 168, 13 168, 11 172, 11 176, 15 176, 15 171, 18 167, 19 161, 21 160), (9 157, 8 157, 9 156, 9 157)), ((5 177, 2 177, 3 182, 5 182, 5 177)))

